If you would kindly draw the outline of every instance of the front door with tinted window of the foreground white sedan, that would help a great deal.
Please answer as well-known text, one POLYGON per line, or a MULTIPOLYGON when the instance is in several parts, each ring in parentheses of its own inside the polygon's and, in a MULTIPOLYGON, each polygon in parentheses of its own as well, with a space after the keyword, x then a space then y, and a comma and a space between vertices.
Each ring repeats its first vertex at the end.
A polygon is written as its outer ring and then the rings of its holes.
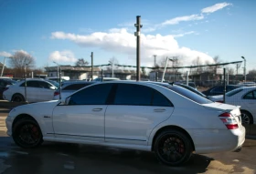
POLYGON ((104 114, 112 84, 86 87, 67 98, 69 103, 53 110, 57 138, 104 140, 104 114))

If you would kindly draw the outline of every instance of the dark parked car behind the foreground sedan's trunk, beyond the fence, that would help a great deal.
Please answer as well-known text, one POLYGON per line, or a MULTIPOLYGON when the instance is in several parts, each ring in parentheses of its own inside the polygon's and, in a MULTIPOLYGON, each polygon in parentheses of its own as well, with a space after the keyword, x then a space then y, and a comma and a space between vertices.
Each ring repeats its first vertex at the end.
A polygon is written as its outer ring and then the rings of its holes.
MULTIPOLYGON (((235 88, 242 87, 238 85, 227 85, 226 86, 226 92, 229 92, 235 88)), ((223 95, 224 94, 224 86, 215 86, 211 87, 206 91, 202 91, 202 93, 206 96, 218 96, 218 95, 223 95)))

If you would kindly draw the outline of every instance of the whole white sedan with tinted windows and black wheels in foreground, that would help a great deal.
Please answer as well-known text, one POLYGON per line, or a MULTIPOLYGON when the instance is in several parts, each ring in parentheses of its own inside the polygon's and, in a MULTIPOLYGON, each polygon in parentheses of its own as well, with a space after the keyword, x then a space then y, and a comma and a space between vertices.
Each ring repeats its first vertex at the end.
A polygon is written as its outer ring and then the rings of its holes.
POLYGON ((193 152, 238 151, 245 140, 240 107, 214 103, 184 87, 111 81, 67 98, 13 108, 7 134, 22 148, 43 140, 155 151, 176 166, 193 152))

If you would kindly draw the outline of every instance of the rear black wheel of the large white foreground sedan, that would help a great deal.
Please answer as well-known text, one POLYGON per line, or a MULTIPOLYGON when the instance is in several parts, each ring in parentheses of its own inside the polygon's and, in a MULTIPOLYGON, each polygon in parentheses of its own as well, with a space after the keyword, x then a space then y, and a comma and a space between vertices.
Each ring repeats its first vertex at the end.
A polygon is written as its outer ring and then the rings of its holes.
POLYGON ((187 135, 170 129, 155 138, 154 151, 160 162, 168 166, 179 166, 190 159, 193 148, 187 135))

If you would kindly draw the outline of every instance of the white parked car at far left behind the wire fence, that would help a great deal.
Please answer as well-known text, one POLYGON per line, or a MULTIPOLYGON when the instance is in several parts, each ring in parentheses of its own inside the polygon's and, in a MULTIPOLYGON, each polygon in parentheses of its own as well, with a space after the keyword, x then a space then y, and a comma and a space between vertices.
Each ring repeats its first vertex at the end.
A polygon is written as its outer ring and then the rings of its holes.
MULTIPOLYGON (((27 79, 27 102, 51 100, 56 89, 57 87, 46 80, 39 78, 27 79)), ((6 87, 3 97, 8 101, 25 101, 25 81, 22 80, 15 85, 6 87)))

